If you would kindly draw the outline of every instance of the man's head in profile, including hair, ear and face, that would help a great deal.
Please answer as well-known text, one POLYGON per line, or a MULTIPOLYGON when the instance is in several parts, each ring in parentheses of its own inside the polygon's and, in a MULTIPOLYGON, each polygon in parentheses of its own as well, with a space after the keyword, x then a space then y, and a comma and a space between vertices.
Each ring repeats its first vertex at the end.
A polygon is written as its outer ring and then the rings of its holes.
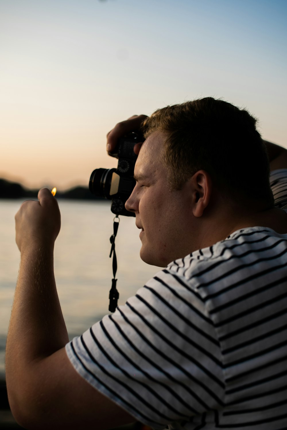
POLYGON ((154 112, 144 133, 126 208, 142 229, 148 264, 165 266, 224 239, 233 204, 245 213, 256 202, 272 206, 267 154, 247 111, 204 98, 154 112))

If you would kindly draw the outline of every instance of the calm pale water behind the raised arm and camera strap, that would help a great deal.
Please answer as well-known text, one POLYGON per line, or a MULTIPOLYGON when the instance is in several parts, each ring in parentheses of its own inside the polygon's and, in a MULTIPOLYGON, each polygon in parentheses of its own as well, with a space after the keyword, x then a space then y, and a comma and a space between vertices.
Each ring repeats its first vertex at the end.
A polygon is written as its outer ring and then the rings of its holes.
MULTIPOLYGON (((0 200, 0 374, 18 275, 14 216, 22 200, 0 200)), ((55 277, 70 339, 108 313, 112 261, 109 258, 114 215, 109 202, 59 200, 62 227, 55 245, 55 277)), ((135 294, 158 271, 139 258, 135 218, 120 217, 116 237, 119 304, 135 294)))

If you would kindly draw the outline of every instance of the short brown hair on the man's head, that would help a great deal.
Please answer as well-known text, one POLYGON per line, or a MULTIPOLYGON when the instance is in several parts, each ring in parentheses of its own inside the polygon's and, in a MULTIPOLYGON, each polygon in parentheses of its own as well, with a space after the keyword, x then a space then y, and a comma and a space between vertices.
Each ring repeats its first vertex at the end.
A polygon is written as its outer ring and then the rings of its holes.
POLYGON ((206 170, 231 197, 264 200, 272 206, 269 162, 256 118, 212 97, 158 109, 143 123, 144 137, 166 135, 164 163, 171 189, 206 170), (237 194, 237 196, 236 196, 237 194))

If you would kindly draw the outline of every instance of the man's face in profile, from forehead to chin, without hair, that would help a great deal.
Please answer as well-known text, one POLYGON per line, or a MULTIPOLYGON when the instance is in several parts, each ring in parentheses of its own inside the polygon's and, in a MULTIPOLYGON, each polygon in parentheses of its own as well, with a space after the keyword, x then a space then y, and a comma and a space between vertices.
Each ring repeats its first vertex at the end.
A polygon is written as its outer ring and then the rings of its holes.
POLYGON ((191 252, 194 233, 193 187, 187 181, 181 190, 170 190, 163 141, 160 132, 145 140, 135 166, 136 186, 126 202, 142 230, 142 260, 161 267, 191 252))

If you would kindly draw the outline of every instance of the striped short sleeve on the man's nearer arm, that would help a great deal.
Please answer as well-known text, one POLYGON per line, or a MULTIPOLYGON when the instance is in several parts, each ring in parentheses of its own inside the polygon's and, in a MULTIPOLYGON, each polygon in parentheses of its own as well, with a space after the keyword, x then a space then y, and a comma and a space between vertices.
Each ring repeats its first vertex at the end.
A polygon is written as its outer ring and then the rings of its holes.
POLYGON ((86 381, 154 429, 223 405, 213 322, 197 290, 171 270, 66 350, 86 381))

